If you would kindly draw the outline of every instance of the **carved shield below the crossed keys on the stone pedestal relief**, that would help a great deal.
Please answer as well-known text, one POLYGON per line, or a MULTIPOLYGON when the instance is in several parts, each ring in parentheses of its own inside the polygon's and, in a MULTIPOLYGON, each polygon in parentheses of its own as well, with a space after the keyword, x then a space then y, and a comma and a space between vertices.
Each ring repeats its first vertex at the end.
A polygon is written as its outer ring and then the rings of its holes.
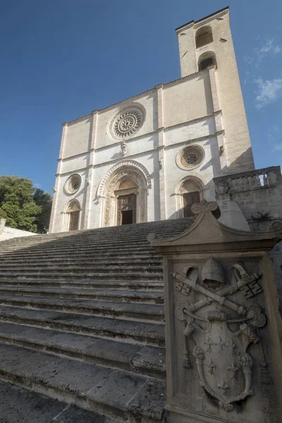
POLYGON ((207 330, 199 327, 192 333, 200 384, 224 410, 231 411, 232 403, 252 395, 252 358, 246 353, 250 339, 244 333, 247 325, 232 332, 221 310, 208 312, 208 321, 207 330))

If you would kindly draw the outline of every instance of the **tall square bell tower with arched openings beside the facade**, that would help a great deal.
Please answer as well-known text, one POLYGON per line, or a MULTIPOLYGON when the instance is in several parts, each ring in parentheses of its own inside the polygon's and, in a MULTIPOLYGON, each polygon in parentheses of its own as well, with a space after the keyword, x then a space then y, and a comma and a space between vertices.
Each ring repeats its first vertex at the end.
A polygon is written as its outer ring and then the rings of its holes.
MULTIPOLYGON (((214 68, 214 111, 221 110, 228 173, 254 169, 250 135, 233 48, 229 8, 176 28, 181 78, 214 68), (218 109, 218 110, 216 110, 218 109)), ((212 80, 213 79, 213 80, 212 80)))

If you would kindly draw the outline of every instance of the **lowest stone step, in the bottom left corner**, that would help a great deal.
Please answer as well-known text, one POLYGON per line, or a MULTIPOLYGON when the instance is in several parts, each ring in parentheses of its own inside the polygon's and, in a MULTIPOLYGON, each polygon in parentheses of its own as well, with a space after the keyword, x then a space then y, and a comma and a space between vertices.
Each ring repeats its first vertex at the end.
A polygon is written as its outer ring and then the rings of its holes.
POLYGON ((0 381, 1 423, 120 423, 90 410, 0 381))

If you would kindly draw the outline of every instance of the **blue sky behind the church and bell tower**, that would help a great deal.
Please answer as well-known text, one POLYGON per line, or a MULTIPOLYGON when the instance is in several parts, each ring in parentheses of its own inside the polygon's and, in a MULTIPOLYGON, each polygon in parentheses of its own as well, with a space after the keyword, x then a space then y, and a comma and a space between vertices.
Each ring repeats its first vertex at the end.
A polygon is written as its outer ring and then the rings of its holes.
MULTIPOLYGON (((51 191, 61 123, 180 77, 175 28, 221 0, 1 0, 0 174, 51 191)), ((282 164, 282 2, 230 0, 256 168, 282 164)))

